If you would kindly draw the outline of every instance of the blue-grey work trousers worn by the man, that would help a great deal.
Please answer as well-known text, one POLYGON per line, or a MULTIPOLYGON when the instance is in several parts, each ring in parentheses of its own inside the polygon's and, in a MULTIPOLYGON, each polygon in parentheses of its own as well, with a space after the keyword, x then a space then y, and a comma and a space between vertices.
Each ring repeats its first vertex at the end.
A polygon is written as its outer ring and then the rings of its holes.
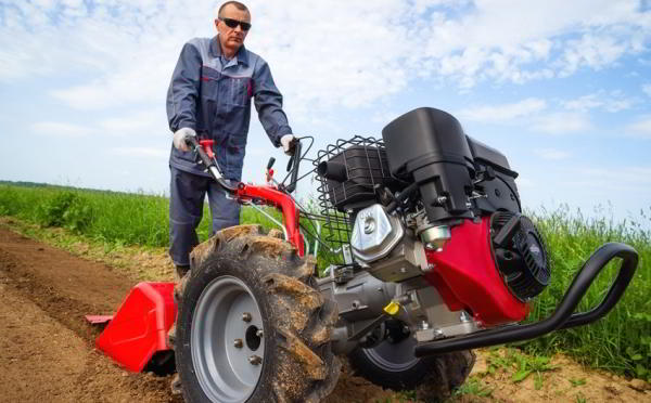
POLYGON ((169 256, 176 265, 189 265, 190 252, 199 245, 196 227, 203 216, 206 193, 213 217, 210 236, 240 223, 240 204, 227 198, 214 179, 170 167, 169 256))

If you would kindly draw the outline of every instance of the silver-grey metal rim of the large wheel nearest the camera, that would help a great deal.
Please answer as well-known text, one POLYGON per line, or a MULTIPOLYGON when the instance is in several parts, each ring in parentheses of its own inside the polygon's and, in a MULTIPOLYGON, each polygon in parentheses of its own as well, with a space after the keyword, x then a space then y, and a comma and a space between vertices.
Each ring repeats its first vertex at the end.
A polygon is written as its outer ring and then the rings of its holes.
POLYGON ((199 297, 190 332, 192 363, 206 396, 229 403, 248 399, 265 356, 263 318, 251 289, 233 276, 212 281, 199 297))

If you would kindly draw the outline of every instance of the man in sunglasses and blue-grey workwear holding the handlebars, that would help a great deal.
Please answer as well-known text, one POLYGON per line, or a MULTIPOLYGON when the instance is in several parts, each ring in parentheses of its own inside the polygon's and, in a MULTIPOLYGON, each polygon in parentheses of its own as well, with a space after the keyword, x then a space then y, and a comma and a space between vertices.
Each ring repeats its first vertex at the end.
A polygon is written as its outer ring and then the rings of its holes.
POLYGON ((180 278, 188 272, 189 253, 199 244, 199 225, 207 192, 213 233, 240 222, 240 206, 195 162, 186 139, 215 141, 215 155, 228 180, 240 181, 251 100, 275 146, 290 153, 294 139, 282 110, 282 95, 267 63, 244 48, 251 13, 227 1, 215 16, 217 36, 190 40, 177 62, 167 92, 167 117, 174 132, 169 157, 169 255, 180 278))

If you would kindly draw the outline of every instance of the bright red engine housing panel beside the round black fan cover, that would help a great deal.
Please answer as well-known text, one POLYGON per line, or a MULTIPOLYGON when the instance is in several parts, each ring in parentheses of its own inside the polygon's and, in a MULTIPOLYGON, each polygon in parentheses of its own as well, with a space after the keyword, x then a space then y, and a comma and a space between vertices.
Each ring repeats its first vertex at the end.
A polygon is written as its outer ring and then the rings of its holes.
POLYGON ((464 220, 452 226, 443 250, 427 250, 434 269, 425 278, 436 287, 450 311, 467 310, 475 321, 494 326, 525 318, 527 303, 516 299, 497 270, 490 248, 490 219, 464 220))

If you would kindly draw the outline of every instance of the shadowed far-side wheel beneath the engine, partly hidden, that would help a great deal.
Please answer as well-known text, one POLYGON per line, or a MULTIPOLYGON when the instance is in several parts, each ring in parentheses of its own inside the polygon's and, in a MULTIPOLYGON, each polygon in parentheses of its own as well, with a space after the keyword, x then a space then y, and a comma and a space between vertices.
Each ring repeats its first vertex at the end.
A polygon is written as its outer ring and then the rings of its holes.
POLYGON ((447 399, 465 381, 475 361, 472 351, 416 358, 413 337, 401 332, 398 323, 387 322, 387 337, 374 348, 356 348, 348 354, 355 375, 383 388, 414 390, 425 402, 447 399))

